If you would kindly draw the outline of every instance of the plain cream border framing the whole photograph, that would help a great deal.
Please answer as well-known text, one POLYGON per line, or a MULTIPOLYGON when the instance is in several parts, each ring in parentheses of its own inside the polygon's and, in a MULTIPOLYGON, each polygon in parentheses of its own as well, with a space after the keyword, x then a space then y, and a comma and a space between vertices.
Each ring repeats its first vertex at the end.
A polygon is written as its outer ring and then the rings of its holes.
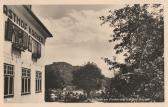
POLYGON ((40 107, 55 107, 55 106, 61 106, 61 107, 101 107, 101 106, 136 106, 136 107, 166 107, 168 105, 168 75, 167 75, 167 67, 168 67, 168 2, 166 0, 1 0, 0 1, 0 106, 1 107, 30 107, 30 106, 40 106, 40 107), (62 5, 62 4, 163 4, 164 5, 164 96, 165 101, 160 103, 153 103, 153 102, 147 102, 147 103, 57 103, 57 102, 44 102, 44 103, 4 103, 4 97, 3 97, 3 35, 4 35, 4 27, 3 25, 3 5, 22 5, 22 4, 31 4, 31 5, 62 5))

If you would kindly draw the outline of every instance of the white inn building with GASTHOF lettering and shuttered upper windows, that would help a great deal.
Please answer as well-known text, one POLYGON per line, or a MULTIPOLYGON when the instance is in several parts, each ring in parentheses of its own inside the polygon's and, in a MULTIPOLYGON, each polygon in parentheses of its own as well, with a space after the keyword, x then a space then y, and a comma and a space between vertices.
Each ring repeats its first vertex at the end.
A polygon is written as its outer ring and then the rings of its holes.
POLYGON ((43 102, 44 47, 52 34, 31 5, 4 5, 4 102, 43 102))

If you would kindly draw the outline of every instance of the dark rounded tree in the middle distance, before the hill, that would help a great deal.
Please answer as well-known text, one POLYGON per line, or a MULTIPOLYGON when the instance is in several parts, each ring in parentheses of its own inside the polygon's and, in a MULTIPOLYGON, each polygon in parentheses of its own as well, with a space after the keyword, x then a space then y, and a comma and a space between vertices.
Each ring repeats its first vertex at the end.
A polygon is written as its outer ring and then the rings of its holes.
POLYGON ((73 84, 83 89, 87 93, 87 96, 90 97, 92 90, 101 88, 101 79, 103 79, 103 77, 97 65, 88 62, 73 72, 73 84))

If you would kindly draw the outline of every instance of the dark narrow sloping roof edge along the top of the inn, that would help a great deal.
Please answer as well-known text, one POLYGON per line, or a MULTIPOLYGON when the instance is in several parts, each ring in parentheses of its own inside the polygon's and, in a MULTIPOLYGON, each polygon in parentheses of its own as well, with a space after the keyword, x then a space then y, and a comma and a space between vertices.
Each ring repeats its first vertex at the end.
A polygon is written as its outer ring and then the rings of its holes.
POLYGON ((44 26, 44 24, 39 20, 39 18, 25 5, 23 7, 32 15, 32 17, 42 26, 42 28, 48 33, 47 37, 53 37, 50 31, 44 26))

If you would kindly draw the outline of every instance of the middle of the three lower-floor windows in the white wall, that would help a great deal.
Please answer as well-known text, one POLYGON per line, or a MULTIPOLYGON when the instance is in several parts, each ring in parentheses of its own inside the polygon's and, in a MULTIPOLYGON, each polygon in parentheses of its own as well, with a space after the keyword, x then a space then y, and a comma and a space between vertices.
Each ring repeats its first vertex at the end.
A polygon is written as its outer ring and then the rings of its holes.
POLYGON ((30 94, 31 71, 27 68, 22 68, 22 95, 30 94))

